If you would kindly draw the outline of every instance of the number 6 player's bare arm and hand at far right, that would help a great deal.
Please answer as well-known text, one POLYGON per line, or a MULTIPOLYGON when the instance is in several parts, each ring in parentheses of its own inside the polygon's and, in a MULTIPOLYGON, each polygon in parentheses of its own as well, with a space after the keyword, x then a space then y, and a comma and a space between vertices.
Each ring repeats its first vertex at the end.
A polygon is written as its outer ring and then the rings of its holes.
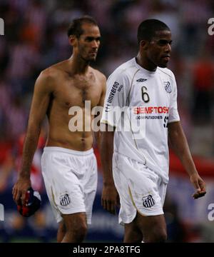
POLYGON ((193 162, 188 142, 185 138, 180 122, 178 121, 168 124, 168 133, 170 146, 172 146, 173 150, 177 154, 190 176, 191 183, 193 183, 193 186, 196 189, 196 192, 193 194, 193 198, 204 196, 206 193, 205 182, 200 178, 198 171, 195 168, 195 163, 193 162))

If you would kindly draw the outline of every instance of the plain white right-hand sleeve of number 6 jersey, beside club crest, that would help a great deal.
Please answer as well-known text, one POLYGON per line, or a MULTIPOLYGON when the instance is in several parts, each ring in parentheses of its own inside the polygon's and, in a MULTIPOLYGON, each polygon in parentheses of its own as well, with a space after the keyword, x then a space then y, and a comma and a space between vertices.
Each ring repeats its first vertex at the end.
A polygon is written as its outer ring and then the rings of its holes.
POLYGON ((170 97, 170 109, 169 109, 169 116, 168 116, 168 123, 175 122, 175 121, 180 121, 180 116, 178 114, 178 104, 177 104, 177 84, 175 81, 175 76, 173 75, 172 79, 172 93, 170 97))

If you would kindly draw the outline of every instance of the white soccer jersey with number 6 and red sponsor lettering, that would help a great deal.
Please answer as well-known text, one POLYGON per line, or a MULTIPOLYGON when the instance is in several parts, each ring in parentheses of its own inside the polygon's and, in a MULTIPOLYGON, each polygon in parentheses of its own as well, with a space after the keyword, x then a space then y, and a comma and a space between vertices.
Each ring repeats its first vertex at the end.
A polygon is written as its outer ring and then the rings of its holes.
POLYGON ((101 123, 116 127, 114 151, 145 163, 168 183, 168 123, 180 121, 175 76, 133 58, 107 81, 101 123))

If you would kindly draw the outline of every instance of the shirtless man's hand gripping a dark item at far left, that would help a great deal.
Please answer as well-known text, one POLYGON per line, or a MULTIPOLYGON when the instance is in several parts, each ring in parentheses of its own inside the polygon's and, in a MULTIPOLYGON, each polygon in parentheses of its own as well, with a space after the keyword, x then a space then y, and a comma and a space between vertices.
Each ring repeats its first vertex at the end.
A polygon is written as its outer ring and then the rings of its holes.
POLYGON ((20 198, 22 204, 24 204, 26 191, 31 187, 31 180, 30 178, 19 178, 18 181, 15 183, 13 188, 13 198, 16 204, 19 203, 20 198))

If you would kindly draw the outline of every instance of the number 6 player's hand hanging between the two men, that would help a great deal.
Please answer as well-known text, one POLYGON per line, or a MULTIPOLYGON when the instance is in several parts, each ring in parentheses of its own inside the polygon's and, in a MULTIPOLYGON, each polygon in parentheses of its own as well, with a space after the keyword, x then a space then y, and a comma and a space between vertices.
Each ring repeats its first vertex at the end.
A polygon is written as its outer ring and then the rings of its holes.
POLYGON ((103 208, 112 213, 116 213, 116 206, 119 206, 120 200, 116 187, 112 184, 111 186, 103 186, 102 193, 102 206, 103 208))

